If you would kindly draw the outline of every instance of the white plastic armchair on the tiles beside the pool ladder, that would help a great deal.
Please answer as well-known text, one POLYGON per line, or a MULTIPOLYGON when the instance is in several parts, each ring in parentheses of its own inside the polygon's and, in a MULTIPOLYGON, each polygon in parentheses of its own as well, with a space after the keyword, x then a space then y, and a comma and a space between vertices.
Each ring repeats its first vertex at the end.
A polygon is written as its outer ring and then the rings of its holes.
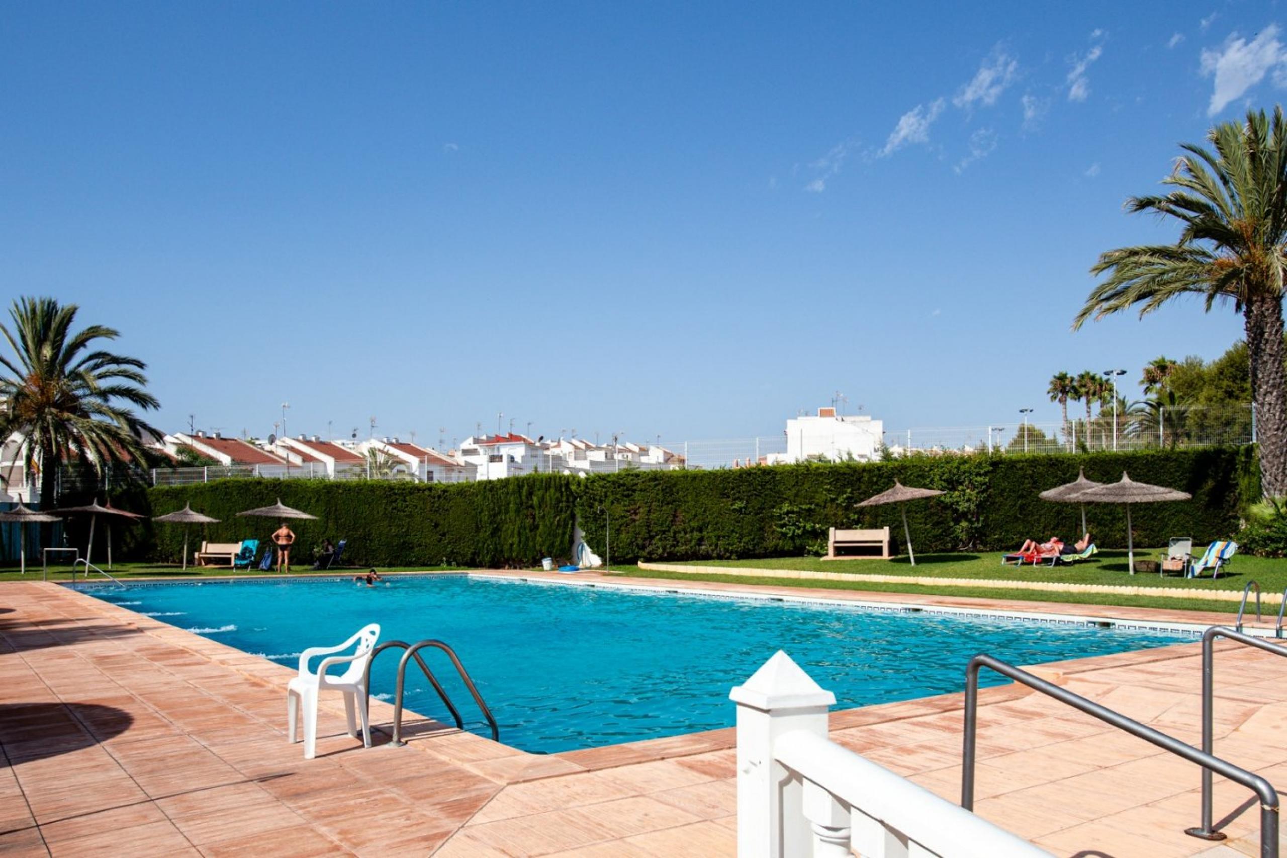
POLYGON ((288 738, 291 743, 297 742, 295 725, 299 721, 300 707, 304 709, 304 759, 311 760, 317 755, 318 746, 318 694, 322 691, 337 691, 344 693, 344 711, 349 716, 349 736, 358 736, 358 725, 354 721, 354 709, 362 718, 362 743, 371 747, 371 723, 367 718, 367 662, 371 661, 371 651, 376 648, 380 639, 380 625, 372 622, 362 631, 353 635, 336 647, 310 647, 300 653, 300 675, 291 680, 286 689, 286 720, 288 724, 288 738), (329 653, 345 652, 356 644, 356 649, 347 656, 331 656, 323 658, 318 665, 318 671, 309 671, 309 658, 314 656, 327 656, 329 653), (338 676, 329 676, 327 671, 332 665, 349 665, 349 669, 338 676))

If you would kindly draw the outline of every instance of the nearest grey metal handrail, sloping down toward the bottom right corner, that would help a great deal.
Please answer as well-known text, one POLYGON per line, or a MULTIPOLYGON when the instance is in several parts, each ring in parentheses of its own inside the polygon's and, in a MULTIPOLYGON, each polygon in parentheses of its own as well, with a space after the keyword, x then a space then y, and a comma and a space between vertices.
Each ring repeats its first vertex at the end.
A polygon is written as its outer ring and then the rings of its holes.
POLYGON ((1260 799, 1260 855, 1261 858, 1278 858, 1278 792, 1265 778, 1233 765, 1210 751, 1187 745, 1174 736, 1167 736, 1161 730, 1126 718, 1121 712, 1115 712, 1106 706, 1075 694, 1066 688, 1059 688, 1053 683, 1033 676, 1026 670, 1004 662, 991 656, 974 656, 965 669, 965 743, 961 759, 961 806, 967 810, 974 809, 974 758, 977 754, 977 728, 978 728, 978 671, 982 667, 994 670, 1003 676, 1008 676, 1017 683, 1027 685, 1032 691, 1046 697, 1053 697, 1060 703, 1072 706, 1077 711, 1125 730, 1131 736, 1144 739, 1163 751, 1201 765, 1205 772, 1215 772, 1234 783, 1241 783, 1254 791, 1260 799))

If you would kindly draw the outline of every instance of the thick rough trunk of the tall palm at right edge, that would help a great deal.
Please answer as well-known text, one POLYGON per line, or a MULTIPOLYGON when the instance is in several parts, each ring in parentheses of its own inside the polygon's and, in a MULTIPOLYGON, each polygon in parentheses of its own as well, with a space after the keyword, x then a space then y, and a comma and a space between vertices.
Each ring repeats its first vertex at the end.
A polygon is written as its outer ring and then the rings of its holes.
POLYGON ((1287 371, 1283 370, 1282 296, 1250 296, 1243 308, 1243 322, 1260 446, 1260 487, 1269 497, 1282 497, 1287 495, 1287 371))

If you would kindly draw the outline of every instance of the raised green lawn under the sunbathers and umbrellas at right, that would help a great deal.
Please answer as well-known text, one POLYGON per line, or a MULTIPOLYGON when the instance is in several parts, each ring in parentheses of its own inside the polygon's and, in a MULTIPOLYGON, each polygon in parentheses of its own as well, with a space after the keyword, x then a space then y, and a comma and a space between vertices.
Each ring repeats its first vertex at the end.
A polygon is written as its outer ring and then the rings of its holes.
MULTIPOLYGON (((1136 549, 1135 559, 1157 559, 1162 549, 1136 549)), ((1001 566, 1000 551, 916 555, 892 560, 822 560, 816 557, 764 558, 758 560, 685 560, 687 566, 726 566, 761 569, 799 569, 806 572, 848 572, 860 575, 907 575, 936 578, 1003 578, 1014 581, 1060 581, 1071 584, 1118 584, 1140 587, 1190 587, 1194 590, 1238 590, 1255 578, 1265 593, 1287 587, 1287 560, 1236 555, 1220 577, 1184 578, 1175 575, 1127 575, 1126 551, 1106 550, 1076 566, 1001 566)), ((826 582, 821 582, 826 584, 826 582)))

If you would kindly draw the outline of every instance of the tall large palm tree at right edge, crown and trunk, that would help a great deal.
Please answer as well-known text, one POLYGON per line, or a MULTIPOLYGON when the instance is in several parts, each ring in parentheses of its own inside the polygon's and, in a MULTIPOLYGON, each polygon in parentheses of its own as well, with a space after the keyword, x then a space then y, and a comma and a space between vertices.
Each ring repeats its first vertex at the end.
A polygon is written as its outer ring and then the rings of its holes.
POLYGON ((1131 197, 1131 211, 1179 222, 1174 245, 1118 247, 1090 269, 1107 274, 1073 319, 1127 308, 1149 313, 1174 298, 1199 295, 1210 310, 1233 303, 1242 314, 1251 361, 1251 398, 1265 495, 1287 495, 1287 371, 1283 367, 1283 278, 1287 276, 1287 124, 1250 111, 1246 124, 1207 134, 1215 151, 1185 143, 1165 196, 1131 197))

